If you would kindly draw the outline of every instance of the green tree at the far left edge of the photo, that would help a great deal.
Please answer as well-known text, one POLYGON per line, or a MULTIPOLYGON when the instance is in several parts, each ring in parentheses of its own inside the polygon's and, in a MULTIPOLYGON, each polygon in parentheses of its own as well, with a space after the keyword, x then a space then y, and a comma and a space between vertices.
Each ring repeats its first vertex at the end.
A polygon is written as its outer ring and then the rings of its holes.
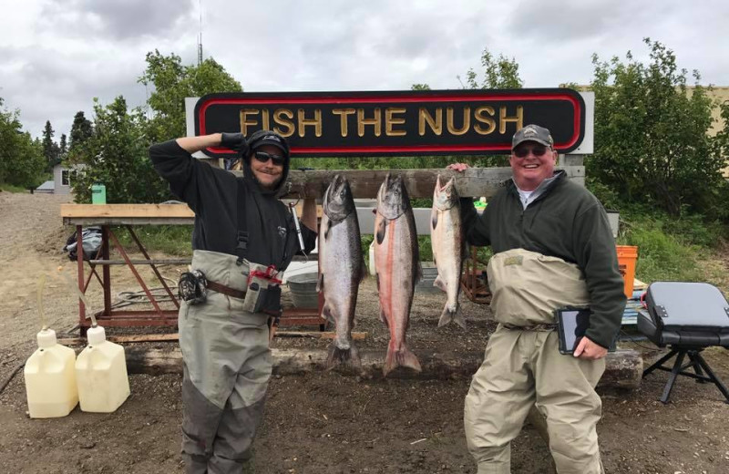
POLYGON ((46 159, 40 142, 23 131, 19 115, 5 110, 0 98, 0 183, 35 188, 45 178, 46 159))

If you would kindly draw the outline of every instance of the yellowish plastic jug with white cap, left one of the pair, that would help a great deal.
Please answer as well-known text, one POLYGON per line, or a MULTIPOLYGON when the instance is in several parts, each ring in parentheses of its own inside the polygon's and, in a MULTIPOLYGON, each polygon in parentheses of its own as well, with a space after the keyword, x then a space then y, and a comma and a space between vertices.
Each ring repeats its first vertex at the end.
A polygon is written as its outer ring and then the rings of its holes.
POLYGON ((56 342, 53 329, 41 330, 36 338, 38 348, 23 371, 28 413, 31 418, 66 417, 78 403, 76 353, 56 342))

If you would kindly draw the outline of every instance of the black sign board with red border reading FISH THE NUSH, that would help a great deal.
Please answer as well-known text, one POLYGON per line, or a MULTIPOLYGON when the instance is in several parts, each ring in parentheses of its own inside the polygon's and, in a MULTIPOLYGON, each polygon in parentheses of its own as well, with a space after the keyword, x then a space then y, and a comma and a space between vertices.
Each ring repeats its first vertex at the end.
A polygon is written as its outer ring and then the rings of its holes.
POLYGON ((272 129, 299 157, 503 154, 530 123, 566 153, 584 136, 585 103, 568 88, 243 92, 200 98, 194 118, 196 135, 272 129))

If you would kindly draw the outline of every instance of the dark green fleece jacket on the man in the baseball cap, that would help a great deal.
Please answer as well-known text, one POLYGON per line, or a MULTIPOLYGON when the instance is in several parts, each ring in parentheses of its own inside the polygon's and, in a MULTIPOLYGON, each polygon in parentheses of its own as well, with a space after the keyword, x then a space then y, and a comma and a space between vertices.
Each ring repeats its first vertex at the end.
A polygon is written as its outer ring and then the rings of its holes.
POLYGON ((508 180, 480 217, 470 199, 461 200, 461 213, 472 245, 490 245, 494 253, 521 248, 576 263, 590 294, 586 335, 603 347, 611 345, 621 327, 625 294, 608 215, 590 191, 557 171, 527 209, 508 180))

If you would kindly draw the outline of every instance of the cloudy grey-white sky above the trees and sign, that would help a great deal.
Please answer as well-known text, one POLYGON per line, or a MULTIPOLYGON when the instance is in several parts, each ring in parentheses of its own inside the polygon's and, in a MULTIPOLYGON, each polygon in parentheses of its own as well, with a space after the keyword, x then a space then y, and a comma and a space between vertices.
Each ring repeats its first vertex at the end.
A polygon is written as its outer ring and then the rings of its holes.
POLYGON ((513 57, 525 87, 589 83, 590 57, 646 60, 644 36, 729 86, 726 0, 0 0, 0 98, 39 136, 68 134, 93 98, 142 105, 148 51, 205 57, 249 92, 460 88, 485 47, 513 57), (723 33, 724 32, 724 33, 723 33))

